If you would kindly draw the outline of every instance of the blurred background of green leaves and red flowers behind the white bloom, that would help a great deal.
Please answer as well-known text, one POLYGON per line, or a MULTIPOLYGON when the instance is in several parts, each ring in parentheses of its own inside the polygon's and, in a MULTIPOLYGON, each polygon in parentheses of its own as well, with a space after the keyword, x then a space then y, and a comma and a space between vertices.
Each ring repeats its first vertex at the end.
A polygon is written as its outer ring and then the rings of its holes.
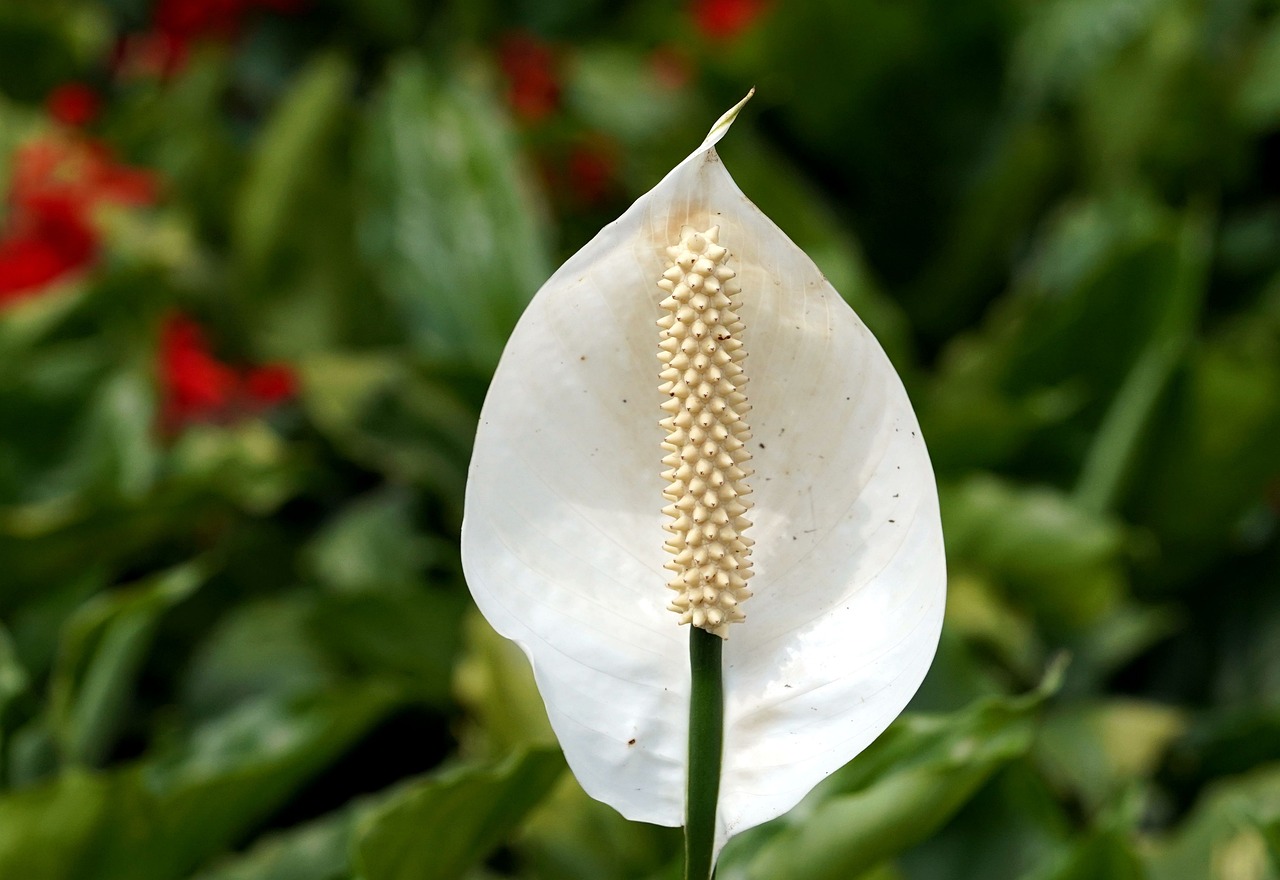
POLYGON ((950 597, 721 876, 1280 877, 1275 0, 0 0, 0 876, 678 876, 457 536, 524 303, 750 86, 950 597))

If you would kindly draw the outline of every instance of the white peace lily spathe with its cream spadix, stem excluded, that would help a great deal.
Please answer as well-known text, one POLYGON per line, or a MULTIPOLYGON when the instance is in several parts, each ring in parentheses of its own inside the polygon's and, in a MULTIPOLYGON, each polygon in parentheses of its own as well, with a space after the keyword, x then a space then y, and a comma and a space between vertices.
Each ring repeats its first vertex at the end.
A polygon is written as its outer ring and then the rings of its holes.
POLYGON ((476 604, 529 656, 582 788, 628 819, 685 824, 680 624, 724 640, 713 852, 902 710, 946 579, 897 373, 716 153, 742 104, 534 297, 462 527, 476 604))

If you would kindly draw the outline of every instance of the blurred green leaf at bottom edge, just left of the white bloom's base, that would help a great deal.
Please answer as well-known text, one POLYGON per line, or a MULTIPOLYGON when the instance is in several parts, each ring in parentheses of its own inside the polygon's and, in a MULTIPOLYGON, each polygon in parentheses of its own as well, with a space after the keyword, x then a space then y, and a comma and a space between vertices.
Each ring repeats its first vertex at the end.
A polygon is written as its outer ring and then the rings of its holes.
POLYGON ((407 788, 361 822, 355 844, 360 879, 461 877, 511 835, 563 769, 559 750, 535 748, 407 788))

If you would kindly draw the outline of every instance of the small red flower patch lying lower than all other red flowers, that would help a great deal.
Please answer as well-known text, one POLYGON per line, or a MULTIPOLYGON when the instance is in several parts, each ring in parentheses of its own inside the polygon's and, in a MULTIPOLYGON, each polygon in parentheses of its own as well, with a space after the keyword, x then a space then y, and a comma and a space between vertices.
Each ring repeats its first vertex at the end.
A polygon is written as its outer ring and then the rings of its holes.
POLYGON ((165 318, 160 334, 164 425, 228 421, 297 394, 292 367, 271 363, 238 371, 219 361, 204 329, 184 315, 165 318))

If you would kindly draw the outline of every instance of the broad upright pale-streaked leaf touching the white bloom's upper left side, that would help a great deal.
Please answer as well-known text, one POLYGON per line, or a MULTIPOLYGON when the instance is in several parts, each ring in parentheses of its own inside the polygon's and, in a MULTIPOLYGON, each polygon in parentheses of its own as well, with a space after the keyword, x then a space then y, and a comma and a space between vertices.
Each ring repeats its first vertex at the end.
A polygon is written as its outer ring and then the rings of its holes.
POLYGON ((357 150, 361 249, 413 348, 492 368, 549 274, 544 226, 492 92, 404 56, 357 150))

